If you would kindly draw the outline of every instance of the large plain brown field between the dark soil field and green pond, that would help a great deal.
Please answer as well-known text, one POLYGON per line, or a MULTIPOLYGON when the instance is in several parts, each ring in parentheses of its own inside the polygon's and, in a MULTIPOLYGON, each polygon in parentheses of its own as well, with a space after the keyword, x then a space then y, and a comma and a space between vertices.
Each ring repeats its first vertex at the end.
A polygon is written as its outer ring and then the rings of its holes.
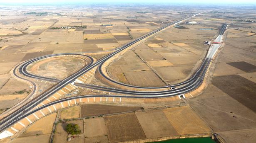
POLYGON ((212 84, 188 102, 215 132, 256 128, 255 112, 212 84))

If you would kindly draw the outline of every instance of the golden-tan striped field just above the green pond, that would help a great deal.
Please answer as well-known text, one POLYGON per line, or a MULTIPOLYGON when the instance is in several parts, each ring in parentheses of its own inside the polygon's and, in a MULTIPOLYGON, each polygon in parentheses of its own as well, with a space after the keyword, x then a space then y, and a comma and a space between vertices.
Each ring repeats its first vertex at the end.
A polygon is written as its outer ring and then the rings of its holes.
POLYGON ((179 135, 211 132, 204 121, 190 107, 164 109, 164 114, 179 135))

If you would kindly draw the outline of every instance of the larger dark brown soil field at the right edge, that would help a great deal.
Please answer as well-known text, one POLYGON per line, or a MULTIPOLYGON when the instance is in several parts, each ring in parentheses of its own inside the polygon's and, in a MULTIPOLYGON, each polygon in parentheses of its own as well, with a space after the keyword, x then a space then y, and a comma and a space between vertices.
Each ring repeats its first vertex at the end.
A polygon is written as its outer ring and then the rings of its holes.
POLYGON ((214 77, 212 84, 256 112, 256 83, 239 75, 214 77))

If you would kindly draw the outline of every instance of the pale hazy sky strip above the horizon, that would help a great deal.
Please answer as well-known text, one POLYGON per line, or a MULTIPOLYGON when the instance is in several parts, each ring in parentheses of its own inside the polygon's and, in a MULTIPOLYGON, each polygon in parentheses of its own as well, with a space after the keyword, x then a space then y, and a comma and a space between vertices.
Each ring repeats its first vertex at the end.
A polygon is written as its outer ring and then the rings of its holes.
POLYGON ((256 4, 256 0, 0 0, 0 3, 216 3, 256 4))

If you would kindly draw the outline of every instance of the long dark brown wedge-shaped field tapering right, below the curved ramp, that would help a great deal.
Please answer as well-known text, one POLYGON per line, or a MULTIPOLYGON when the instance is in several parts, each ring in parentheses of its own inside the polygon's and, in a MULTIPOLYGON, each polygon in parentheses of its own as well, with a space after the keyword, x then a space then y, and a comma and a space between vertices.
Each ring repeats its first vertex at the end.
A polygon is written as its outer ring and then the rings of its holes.
POLYGON ((104 114, 113 114, 126 111, 140 110, 141 107, 124 107, 124 106, 110 106, 99 104, 86 104, 81 107, 81 117, 98 116, 104 114))

